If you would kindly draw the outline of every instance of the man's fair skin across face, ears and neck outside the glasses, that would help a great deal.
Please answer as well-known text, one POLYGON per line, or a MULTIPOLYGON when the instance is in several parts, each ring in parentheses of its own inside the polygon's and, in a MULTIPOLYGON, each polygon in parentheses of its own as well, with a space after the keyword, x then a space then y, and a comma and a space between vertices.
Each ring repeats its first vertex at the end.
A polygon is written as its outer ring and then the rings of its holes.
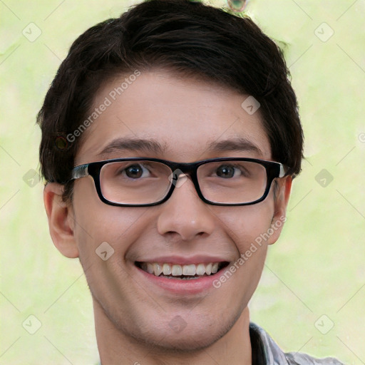
MULTIPOLYGON (((120 85, 106 83, 94 106, 120 85)), ((120 81, 121 80, 121 81, 120 81)), ((222 86, 155 70, 141 75, 88 127, 75 165, 109 158, 152 157, 175 162, 250 157, 271 160, 259 111, 241 108, 244 96, 222 86), (210 143, 245 138, 257 150, 210 150, 210 143), (101 151, 115 138, 160 143, 160 150, 101 151)), ((72 205, 62 186, 44 190, 54 244, 66 257, 79 257, 93 296, 96 336, 103 364, 251 364, 247 304, 262 274, 267 246, 281 228, 216 289, 172 294, 147 282, 134 262, 150 257, 212 255, 235 262, 252 242, 285 216, 292 179, 277 179, 256 205, 207 205, 187 179, 170 199, 153 207, 113 207, 99 200, 92 178, 76 180, 72 205), (96 255, 101 242, 114 254, 96 255), (180 316, 186 324, 174 331, 180 316)), ((282 225, 281 225, 282 226, 282 225)))

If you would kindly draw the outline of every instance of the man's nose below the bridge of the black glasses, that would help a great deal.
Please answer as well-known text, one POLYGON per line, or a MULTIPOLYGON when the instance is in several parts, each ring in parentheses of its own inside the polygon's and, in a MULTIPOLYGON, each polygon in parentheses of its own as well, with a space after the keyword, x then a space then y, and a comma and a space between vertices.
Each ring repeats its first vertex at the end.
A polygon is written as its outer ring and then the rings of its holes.
POLYGON ((158 232, 160 235, 180 236, 183 241, 210 235, 215 227, 215 216, 210 207, 197 195, 190 178, 185 178, 183 183, 179 180, 173 195, 160 205, 158 232))

